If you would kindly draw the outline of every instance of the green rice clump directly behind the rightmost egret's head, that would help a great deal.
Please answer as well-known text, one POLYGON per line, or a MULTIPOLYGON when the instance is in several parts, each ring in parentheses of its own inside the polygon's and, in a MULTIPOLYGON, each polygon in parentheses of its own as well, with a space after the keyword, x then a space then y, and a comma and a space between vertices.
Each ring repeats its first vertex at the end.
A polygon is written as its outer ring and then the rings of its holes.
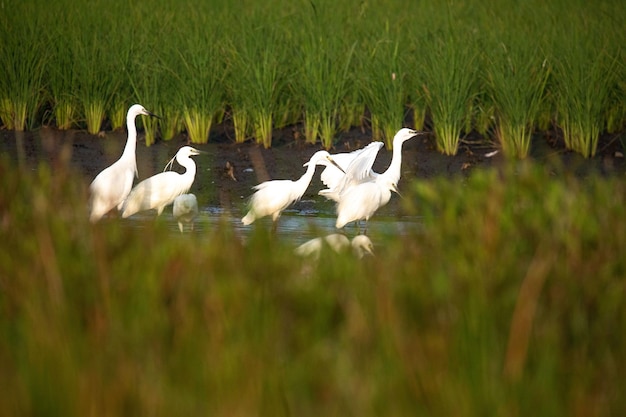
POLYGON ((408 93, 400 42, 388 38, 389 30, 385 35, 374 42, 368 54, 369 73, 364 91, 371 115, 372 136, 375 140, 383 140, 387 149, 391 149, 394 135, 404 126, 408 93))

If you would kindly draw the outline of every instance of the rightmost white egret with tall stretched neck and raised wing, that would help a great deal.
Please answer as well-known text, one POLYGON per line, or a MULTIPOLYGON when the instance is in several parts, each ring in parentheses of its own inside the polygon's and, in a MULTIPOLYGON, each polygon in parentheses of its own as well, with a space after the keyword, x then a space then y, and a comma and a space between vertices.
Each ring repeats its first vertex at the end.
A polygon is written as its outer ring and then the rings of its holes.
POLYGON ((353 221, 365 220, 391 199, 391 191, 398 192, 397 184, 401 175, 402 144, 419 132, 407 128, 400 129, 393 140, 393 156, 389 168, 382 174, 372 170, 376 157, 375 149, 363 152, 354 159, 346 174, 335 189, 327 192, 329 198, 337 201, 337 228, 353 221))

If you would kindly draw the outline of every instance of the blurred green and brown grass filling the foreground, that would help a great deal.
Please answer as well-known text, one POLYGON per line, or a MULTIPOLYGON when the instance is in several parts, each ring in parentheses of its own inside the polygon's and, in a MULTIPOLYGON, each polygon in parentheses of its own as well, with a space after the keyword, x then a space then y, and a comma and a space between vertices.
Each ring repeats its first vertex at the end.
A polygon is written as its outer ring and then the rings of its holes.
POLYGON ((92 226, 71 172, 0 178, 0 415, 626 412, 623 179, 415 182, 419 234, 311 270, 226 223, 92 226))

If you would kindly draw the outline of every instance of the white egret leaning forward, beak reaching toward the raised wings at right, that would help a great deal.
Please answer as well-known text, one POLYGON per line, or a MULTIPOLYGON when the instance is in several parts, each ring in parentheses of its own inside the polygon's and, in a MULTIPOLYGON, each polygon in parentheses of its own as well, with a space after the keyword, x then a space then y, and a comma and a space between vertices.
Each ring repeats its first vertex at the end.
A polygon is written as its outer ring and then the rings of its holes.
POLYGON ((321 165, 322 161, 336 165, 328 152, 318 151, 303 165, 307 170, 299 180, 265 181, 253 187, 256 192, 250 197, 250 210, 241 219, 242 223, 247 226, 256 219, 271 215, 273 227, 276 227, 276 221, 283 210, 302 198, 311 183, 316 165, 321 165))

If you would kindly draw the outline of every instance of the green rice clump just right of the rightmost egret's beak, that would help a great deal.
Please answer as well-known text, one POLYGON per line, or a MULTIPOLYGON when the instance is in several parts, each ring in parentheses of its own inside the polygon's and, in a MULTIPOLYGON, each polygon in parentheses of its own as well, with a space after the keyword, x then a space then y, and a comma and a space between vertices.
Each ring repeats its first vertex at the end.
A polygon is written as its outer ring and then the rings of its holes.
POLYGON ((427 39, 422 73, 424 96, 432 116, 437 149, 456 155, 476 95, 476 45, 450 29, 427 39))

